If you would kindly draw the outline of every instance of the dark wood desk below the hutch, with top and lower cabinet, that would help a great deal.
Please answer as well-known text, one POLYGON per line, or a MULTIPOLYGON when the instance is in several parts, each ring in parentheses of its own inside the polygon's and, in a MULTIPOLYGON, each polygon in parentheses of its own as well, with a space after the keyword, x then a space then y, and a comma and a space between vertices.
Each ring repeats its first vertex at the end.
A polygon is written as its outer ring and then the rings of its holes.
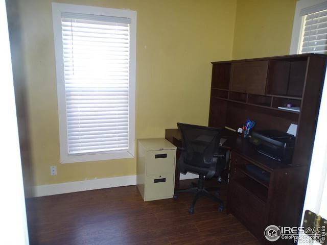
MULTIPOLYGON (((263 244, 267 242, 263 234, 268 225, 297 226, 308 167, 286 165, 264 156, 235 132, 222 130, 221 137, 227 138, 222 147, 231 150, 227 212, 235 215, 263 244), (250 164, 269 173, 270 180, 249 173, 246 166, 250 164)), ((166 129, 166 139, 181 146, 178 129, 166 129)), ((179 180, 178 168, 176 173, 179 180)), ((286 244, 285 240, 280 242, 286 244)))

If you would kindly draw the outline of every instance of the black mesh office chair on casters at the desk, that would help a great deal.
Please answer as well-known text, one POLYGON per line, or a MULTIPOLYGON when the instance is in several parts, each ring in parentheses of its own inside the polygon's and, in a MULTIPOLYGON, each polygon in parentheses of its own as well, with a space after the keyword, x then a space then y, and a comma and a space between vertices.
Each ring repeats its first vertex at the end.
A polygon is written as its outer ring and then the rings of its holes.
POLYGON ((204 179, 219 175, 225 169, 229 156, 229 151, 219 149, 220 129, 180 122, 177 123, 177 127, 182 134, 179 171, 183 174, 187 172, 198 174, 199 179, 196 187, 191 186, 189 189, 175 191, 174 199, 177 199, 178 193, 194 193, 195 197, 189 209, 190 214, 194 213, 194 206, 201 195, 218 202, 220 204, 218 210, 223 211, 223 202, 204 188, 204 179))

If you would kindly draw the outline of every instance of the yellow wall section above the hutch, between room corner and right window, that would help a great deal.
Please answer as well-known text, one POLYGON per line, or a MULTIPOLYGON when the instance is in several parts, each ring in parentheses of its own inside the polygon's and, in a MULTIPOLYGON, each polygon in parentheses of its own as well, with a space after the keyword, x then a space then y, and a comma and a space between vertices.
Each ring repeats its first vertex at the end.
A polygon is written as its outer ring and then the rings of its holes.
POLYGON ((238 0, 232 59, 288 55, 296 0, 238 0))

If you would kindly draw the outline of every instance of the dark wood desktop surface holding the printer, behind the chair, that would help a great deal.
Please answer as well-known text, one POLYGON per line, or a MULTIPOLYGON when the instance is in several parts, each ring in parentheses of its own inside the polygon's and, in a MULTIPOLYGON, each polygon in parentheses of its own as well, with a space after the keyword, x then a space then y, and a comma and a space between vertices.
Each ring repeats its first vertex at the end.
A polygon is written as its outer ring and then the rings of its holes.
MULTIPOLYGON (((244 159, 255 163, 256 165, 269 172, 286 170, 287 168, 295 167, 292 165, 280 163, 256 152, 253 144, 249 142, 249 139, 240 137, 236 132, 222 129, 221 137, 227 138, 222 147, 229 148, 232 151, 237 152, 238 154, 242 155, 244 159)), ((181 133, 178 129, 166 129, 166 139, 176 146, 181 146, 181 133)))

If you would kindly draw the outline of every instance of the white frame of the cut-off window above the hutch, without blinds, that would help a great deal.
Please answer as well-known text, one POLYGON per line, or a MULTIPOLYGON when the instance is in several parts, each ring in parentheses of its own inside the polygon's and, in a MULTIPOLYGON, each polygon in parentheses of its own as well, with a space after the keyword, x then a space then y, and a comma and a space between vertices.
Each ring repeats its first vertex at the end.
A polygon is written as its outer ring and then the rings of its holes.
POLYGON ((303 16, 300 16, 302 9, 315 6, 327 2, 327 0, 298 0, 296 2, 294 21, 293 21, 293 31, 292 39, 290 46, 290 55, 300 54, 300 44, 301 44, 301 35, 303 28, 303 16))

